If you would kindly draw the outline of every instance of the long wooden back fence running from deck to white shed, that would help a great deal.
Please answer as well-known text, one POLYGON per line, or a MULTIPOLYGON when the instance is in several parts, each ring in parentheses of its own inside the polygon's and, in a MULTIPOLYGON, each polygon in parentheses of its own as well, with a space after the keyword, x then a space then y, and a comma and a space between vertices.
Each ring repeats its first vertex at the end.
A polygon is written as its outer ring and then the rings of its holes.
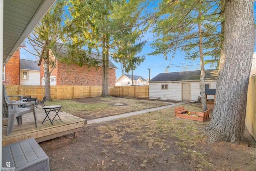
MULTIPOLYGON (((43 99, 44 86, 42 85, 6 85, 7 95, 31 95, 37 99, 43 99)), ((77 99, 85 97, 99 97, 102 94, 102 86, 87 85, 51 85, 52 99, 77 99)), ((148 98, 149 86, 109 86, 108 94, 120 97, 148 98)), ((10 100, 17 100, 11 97, 10 100)))

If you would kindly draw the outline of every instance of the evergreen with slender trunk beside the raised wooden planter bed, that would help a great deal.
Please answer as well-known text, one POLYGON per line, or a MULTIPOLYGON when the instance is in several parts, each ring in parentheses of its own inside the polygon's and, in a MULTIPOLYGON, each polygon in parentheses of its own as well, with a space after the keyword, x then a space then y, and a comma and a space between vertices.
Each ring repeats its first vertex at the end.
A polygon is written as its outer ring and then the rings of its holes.
MULTIPOLYGON (((175 56, 178 51, 185 51, 186 58, 195 60, 200 57, 200 82, 202 110, 206 111, 204 84, 204 56, 214 59, 220 54, 221 35, 217 31, 220 23, 219 8, 215 2, 196 1, 162 1, 153 32, 155 41, 151 44, 151 55, 163 54, 175 56), (167 5, 166 5, 167 4, 167 5), (218 42, 218 43, 217 43, 218 42)), ((214 59, 211 62, 216 62, 214 59)))

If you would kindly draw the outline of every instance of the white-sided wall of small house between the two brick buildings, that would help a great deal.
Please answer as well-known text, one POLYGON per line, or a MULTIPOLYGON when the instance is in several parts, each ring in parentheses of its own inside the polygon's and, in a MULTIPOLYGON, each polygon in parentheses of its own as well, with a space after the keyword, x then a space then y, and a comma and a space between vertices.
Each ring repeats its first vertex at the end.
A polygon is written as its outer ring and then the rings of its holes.
POLYGON ((20 85, 40 85, 40 71, 33 71, 33 70, 22 70, 22 71, 28 72, 28 80, 22 80, 22 76, 20 76, 20 85))

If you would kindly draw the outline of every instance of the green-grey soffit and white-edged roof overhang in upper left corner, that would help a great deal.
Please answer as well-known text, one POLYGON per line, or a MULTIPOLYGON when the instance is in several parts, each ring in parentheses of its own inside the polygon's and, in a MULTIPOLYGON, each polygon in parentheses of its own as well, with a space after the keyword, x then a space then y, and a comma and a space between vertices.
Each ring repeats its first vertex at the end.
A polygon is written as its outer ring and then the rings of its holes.
POLYGON ((12 57, 28 34, 56 0, 4 0, 3 65, 12 57))

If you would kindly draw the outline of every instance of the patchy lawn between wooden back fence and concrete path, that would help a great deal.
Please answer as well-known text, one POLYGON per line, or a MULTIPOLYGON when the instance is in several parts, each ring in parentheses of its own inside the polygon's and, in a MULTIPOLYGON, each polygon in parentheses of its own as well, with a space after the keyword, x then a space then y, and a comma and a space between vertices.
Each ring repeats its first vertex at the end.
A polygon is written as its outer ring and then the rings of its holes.
POLYGON ((61 111, 65 111, 86 120, 92 120, 101 117, 160 107, 168 105, 168 103, 165 103, 165 101, 154 101, 149 99, 93 97, 72 100, 56 100, 47 102, 47 105, 62 105, 61 111), (123 103, 125 105, 116 106, 113 105, 114 103, 123 103))

